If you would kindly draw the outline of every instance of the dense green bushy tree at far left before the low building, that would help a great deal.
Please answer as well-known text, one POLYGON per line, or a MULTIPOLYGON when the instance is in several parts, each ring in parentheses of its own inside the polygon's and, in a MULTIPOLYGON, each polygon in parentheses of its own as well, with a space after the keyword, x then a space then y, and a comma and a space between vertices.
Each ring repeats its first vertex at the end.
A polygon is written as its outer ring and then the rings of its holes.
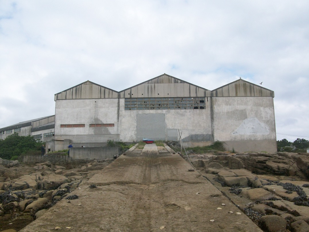
POLYGON ((19 156, 28 151, 38 151, 42 146, 41 141, 32 136, 19 136, 18 133, 7 136, 0 140, 0 158, 10 160, 13 156, 19 156))

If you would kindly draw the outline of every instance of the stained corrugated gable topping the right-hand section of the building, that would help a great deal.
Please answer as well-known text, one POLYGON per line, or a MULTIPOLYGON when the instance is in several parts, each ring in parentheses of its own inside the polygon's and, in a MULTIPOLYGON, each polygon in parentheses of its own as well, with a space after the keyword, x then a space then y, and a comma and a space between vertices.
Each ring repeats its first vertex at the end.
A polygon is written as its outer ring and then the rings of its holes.
POLYGON ((272 90, 252 84, 243 79, 236 80, 211 91, 212 97, 275 97, 272 90))

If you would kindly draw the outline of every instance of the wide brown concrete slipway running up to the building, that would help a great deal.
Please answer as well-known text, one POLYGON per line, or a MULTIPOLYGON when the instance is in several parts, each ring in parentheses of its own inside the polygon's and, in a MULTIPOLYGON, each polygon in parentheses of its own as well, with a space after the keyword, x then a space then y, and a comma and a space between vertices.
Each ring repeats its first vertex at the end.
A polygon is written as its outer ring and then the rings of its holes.
POLYGON ((62 199, 20 231, 262 231, 187 161, 155 144, 121 155, 73 194, 79 198, 62 199))

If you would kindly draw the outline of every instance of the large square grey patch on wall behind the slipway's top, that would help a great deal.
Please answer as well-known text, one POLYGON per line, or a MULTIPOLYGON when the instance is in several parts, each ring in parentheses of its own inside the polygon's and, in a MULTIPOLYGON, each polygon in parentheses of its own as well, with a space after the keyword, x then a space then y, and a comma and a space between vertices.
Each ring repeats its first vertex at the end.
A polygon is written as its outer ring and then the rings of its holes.
POLYGON ((136 139, 165 140, 164 114, 137 114, 136 139))

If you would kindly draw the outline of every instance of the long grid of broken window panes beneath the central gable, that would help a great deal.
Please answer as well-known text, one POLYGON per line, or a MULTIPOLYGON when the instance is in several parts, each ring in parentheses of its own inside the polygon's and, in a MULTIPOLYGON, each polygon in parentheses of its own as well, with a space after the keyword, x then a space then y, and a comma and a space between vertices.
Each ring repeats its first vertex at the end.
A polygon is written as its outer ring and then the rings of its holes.
POLYGON ((125 98, 125 110, 193 110, 205 104, 205 97, 125 98))

